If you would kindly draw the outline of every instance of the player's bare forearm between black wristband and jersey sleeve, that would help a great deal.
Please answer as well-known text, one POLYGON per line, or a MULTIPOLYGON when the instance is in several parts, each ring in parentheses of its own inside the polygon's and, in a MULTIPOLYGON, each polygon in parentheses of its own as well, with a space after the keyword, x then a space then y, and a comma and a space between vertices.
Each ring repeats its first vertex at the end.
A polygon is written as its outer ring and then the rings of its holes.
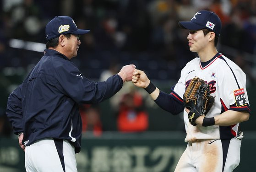
POLYGON ((229 126, 247 121, 250 115, 248 112, 239 112, 228 110, 218 116, 215 116, 215 125, 229 126))

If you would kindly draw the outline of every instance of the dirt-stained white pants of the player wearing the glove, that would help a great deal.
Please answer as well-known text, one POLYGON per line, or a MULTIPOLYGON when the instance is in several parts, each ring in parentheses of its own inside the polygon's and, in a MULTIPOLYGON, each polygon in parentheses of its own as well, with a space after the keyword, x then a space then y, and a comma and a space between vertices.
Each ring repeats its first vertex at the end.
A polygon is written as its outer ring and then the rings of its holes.
POLYGON ((232 172, 240 162, 241 140, 188 143, 174 172, 232 172))

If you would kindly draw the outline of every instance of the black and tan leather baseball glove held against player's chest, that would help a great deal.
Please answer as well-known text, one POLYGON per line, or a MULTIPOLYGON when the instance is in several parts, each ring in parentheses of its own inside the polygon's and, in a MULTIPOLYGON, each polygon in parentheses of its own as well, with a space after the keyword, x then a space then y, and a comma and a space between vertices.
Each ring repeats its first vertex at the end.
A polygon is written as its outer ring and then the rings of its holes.
POLYGON ((184 106, 188 108, 190 124, 196 126, 196 119, 205 116, 212 108, 214 97, 210 96, 210 86, 202 79, 194 77, 189 83, 184 95, 184 106))

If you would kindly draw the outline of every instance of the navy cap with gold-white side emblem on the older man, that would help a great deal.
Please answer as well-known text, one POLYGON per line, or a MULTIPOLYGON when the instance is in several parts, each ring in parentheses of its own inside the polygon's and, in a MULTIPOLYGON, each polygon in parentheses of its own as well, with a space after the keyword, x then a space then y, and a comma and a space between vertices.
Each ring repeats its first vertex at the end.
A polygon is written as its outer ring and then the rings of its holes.
POLYGON ((61 34, 83 35, 88 32, 90 30, 78 29, 75 21, 69 16, 55 16, 45 27, 45 35, 48 41, 59 37, 61 34))

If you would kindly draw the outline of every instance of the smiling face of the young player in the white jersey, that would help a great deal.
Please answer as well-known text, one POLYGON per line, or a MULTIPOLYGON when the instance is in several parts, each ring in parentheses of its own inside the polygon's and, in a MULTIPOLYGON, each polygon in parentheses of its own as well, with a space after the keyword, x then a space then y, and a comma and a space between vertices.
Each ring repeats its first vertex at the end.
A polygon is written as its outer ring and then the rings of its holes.
POLYGON ((204 36, 204 33, 202 30, 197 30, 197 31, 191 30, 189 32, 187 39, 188 39, 189 49, 192 52, 196 52, 196 53, 203 51, 206 48, 206 45, 208 44, 208 39, 206 36, 204 36))

